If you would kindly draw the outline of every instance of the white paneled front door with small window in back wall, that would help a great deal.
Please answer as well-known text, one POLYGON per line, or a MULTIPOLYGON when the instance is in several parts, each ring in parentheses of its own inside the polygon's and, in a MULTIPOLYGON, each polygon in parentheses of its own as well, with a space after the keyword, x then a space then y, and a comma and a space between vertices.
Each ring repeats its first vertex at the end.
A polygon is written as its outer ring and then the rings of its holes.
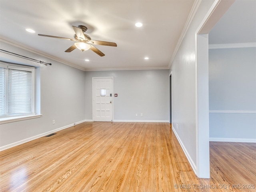
POLYGON ((113 116, 113 77, 96 78, 93 80, 93 120, 112 121, 113 116))

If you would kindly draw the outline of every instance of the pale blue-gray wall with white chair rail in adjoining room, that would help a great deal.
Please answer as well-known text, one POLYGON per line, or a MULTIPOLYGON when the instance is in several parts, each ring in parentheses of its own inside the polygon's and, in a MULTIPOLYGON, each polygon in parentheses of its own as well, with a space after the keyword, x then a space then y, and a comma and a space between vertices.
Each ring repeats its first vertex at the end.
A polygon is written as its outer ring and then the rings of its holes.
POLYGON ((255 47, 209 50, 209 110, 211 140, 255 142, 255 47))

